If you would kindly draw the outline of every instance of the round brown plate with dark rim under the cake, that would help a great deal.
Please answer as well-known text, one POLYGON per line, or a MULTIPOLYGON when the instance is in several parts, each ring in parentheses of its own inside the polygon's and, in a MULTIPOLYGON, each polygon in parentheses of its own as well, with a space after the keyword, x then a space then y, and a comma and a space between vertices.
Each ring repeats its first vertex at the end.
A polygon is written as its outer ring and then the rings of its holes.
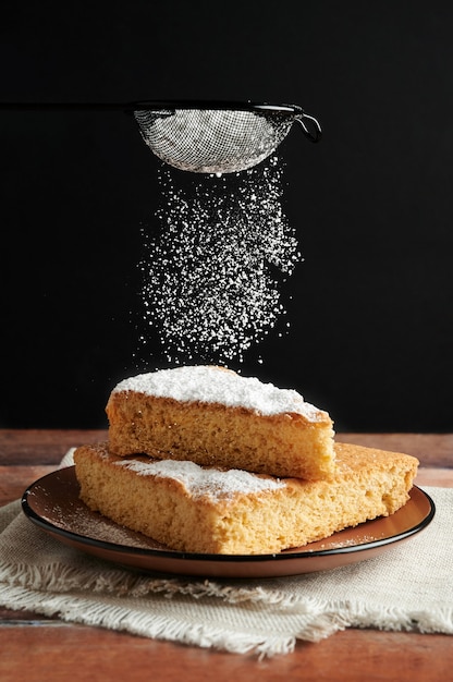
POLYGON ((56 539, 107 561, 179 575, 274 577, 326 571, 376 557, 423 531, 434 503, 414 486, 409 501, 391 516, 276 555, 199 555, 174 551, 90 511, 78 498, 75 467, 44 476, 25 490, 26 516, 56 539))

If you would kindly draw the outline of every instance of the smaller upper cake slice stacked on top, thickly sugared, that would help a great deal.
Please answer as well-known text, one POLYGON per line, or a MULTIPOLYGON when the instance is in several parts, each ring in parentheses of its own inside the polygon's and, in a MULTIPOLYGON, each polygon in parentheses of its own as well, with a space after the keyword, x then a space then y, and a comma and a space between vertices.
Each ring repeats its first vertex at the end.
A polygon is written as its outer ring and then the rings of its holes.
POLYGON ((106 407, 109 449, 316 480, 335 470, 329 414, 294 390, 213 366, 121 381, 106 407))

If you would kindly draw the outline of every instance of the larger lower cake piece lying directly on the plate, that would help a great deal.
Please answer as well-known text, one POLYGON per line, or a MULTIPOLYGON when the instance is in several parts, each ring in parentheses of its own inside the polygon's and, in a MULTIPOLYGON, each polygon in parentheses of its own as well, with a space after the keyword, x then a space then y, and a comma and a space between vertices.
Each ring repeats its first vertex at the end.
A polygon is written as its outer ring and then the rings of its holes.
POLYGON ((331 482, 119 458, 107 443, 83 446, 74 460, 82 500, 118 524, 174 550, 262 555, 387 516, 408 500, 415 458, 342 443, 335 450, 331 482))

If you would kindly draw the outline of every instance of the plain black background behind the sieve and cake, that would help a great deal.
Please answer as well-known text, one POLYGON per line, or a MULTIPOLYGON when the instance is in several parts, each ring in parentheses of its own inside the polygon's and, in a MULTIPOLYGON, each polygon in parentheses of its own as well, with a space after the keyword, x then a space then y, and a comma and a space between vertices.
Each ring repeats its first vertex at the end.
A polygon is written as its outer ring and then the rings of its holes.
MULTIPOLYGON (((319 145, 293 130, 280 148, 305 258, 283 291, 291 330, 243 372, 338 430, 451 430, 453 5, 2 8, 3 102, 249 99, 318 117, 319 145)), ((0 426, 103 427, 137 373, 160 162, 122 112, 3 110, 0 144, 0 426)), ((164 364, 158 346, 145 364, 164 364)))

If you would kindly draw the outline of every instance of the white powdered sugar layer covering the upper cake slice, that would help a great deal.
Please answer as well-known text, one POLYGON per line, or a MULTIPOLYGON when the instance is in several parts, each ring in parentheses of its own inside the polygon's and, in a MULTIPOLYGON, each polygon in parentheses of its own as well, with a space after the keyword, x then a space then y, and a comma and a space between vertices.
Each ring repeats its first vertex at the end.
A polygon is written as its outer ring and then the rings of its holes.
POLYGON ((187 402, 220 403, 231 407, 246 407, 264 415, 302 414, 311 422, 318 422, 327 414, 305 402, 293 389, 280 389, 255 377, 242 377, 235 372, 210 365, 139 374, 120 381, 113 393, 119 391, 136 391, 187 402))

